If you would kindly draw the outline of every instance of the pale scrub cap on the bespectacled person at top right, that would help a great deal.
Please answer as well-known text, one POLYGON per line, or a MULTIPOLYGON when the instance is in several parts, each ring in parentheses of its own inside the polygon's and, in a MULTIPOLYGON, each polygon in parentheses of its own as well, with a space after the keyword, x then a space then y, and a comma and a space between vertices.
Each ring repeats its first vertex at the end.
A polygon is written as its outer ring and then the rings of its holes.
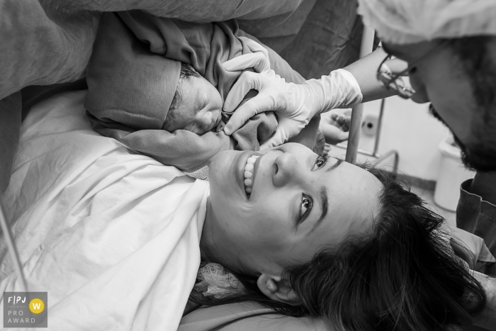
POLYGON ((389 43, 496 35, 495 0, 359 0, 359 14, 389 43))

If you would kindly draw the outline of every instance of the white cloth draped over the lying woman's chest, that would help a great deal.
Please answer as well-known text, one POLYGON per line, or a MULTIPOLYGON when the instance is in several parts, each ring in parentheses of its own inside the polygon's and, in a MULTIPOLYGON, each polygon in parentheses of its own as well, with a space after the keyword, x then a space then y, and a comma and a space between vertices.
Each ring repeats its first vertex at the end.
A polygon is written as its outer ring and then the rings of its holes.
MULTIPOLYGON (((40 103, 21 129, 4 205, 28 291, 48 292, 50 330, 176 330, 208 181, 94 133, 84 96, 40 103)), ((2 296, 20 290, 3 240, 0 279, 2 296)))

